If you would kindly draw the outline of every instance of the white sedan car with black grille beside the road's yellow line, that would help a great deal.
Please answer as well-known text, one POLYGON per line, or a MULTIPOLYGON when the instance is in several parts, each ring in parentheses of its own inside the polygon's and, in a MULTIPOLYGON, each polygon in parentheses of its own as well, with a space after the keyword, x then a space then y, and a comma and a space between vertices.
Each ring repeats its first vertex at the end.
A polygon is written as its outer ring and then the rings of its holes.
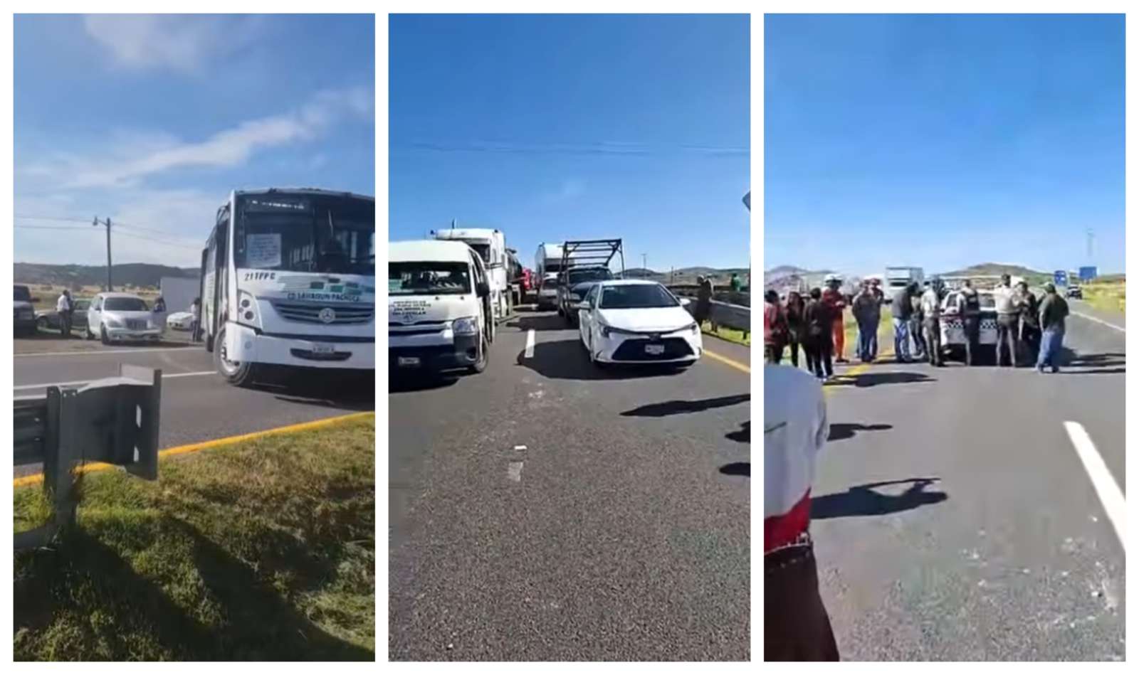
POLYGON ((656 281, 600 281, 577 304, 582 345, 596 364, 695 363, 704 344, 687 304, 656 281))

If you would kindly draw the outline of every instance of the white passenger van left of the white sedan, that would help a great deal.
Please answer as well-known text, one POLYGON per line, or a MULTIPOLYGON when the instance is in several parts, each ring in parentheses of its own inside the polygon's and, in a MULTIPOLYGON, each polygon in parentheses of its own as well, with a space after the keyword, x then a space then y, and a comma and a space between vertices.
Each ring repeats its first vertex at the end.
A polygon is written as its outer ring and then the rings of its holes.
POLYGON ((482 257, 462 241, 392 241, 387 252, 391 373, 485 370, 494 313, 482 257))

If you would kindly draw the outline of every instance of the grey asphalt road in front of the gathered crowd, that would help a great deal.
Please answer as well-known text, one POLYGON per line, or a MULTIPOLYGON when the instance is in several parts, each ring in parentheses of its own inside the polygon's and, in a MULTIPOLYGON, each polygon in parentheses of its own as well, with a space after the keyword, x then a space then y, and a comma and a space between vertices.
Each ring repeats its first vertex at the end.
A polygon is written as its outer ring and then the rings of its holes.
POLYGON ((828 387, 812 533, 844 659, 1124 657, 1124 546, 1065 428, 1122 491, 1124 335, 1070 318, 1058 374, 877 363, 828 387))

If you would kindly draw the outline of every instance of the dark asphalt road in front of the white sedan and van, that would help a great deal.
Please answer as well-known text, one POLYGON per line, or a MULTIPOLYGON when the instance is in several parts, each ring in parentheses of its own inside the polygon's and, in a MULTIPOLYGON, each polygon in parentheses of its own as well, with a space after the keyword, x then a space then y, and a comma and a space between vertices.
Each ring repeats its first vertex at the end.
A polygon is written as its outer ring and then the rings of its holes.
POLYGON ((393 382, 390 658, 747 659, 748 351, 705 346, 744 370, 598 371, 523 313, 482 374, 393 382))

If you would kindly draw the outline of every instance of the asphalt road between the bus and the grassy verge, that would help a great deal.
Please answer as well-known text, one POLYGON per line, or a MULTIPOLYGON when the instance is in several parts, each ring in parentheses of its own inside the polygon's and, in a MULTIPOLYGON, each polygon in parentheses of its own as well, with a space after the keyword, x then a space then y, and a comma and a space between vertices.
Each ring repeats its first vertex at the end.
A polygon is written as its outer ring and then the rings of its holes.
MULTIPOLYGON (((161 368, 162 412, 159 447, 172 447, 248 434, 287 425, 375 409, 371 381, 343 386, 339 376, 278 378, 259 388, 230 386, 214 372, 202 347, 95 345, 93 351, 67 352, 43 340, 40 355, 13 359, 14 395, 43 396, 52 384, 87 382, 117 374, 120 363, 161 368)), ((79 385, 75 385, 79 386, 79 385)), ((38 464, 16 468, 17 476, 40 471, 38 464)))

